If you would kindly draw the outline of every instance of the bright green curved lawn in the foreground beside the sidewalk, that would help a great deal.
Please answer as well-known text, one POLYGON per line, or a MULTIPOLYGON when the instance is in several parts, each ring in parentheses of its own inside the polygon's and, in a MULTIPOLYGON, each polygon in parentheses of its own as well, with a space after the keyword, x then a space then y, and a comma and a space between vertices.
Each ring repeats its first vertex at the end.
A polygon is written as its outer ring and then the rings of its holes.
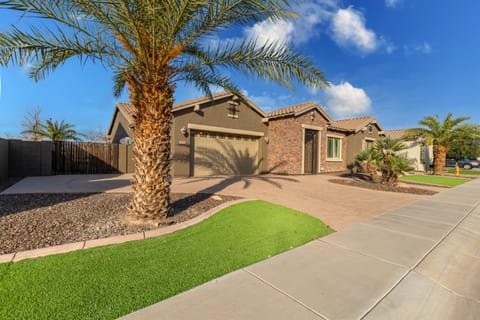
POLYGON ((0 264, 0 319, 115 319, 331 231, 252 201, 163 237, 0 264))

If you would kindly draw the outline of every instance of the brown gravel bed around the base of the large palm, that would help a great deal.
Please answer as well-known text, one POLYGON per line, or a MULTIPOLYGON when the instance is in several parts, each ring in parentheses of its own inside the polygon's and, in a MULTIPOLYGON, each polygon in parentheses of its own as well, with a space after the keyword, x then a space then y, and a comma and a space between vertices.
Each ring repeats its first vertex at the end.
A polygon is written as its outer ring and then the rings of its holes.
POLYGON ((148 226, 126 221, 131 199, 127 193, 0 195, 0 254, 161 228, 239 198, 174 193, 171 216, 148 226))

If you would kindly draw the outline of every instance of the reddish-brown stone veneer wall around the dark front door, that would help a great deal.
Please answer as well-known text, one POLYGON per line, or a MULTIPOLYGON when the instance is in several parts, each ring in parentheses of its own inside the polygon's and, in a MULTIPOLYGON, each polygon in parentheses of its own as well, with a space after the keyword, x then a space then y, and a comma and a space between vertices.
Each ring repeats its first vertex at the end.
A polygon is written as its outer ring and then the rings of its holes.
POLYGON ((315 118, 310 118, 310 112, 298 117, 284 117, 270 120, 268 123, 268 170, 272 173, 301 174, 302 173, 302 124, 321 127, 321 167, 325 165, 326 125, 327 120, 315 111, 315 118))

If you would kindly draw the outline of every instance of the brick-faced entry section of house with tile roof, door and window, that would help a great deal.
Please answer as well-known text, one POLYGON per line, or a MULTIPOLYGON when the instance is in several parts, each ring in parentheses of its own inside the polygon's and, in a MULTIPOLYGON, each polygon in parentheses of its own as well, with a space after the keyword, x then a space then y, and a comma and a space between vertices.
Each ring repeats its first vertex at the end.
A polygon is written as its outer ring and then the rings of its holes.
POLYGON ((314 174, 343 171, 346 155, 344 130, 330 129, 330 116, 307 102, 268 115, 269 172, 314 174))

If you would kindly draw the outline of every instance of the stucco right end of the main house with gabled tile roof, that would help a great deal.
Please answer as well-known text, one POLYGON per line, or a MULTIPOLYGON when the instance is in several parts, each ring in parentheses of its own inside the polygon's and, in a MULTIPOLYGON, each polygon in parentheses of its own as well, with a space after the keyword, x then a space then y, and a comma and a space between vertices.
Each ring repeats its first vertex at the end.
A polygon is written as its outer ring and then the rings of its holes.
POLYGON ((347 133, 346 165, 353 167, 355 156, 360 151, 372 148, 375 142, 385 137, 385 131, 375 117, 358 117, 333 121, 331 130, 334 128, 344 130, 347 133))

